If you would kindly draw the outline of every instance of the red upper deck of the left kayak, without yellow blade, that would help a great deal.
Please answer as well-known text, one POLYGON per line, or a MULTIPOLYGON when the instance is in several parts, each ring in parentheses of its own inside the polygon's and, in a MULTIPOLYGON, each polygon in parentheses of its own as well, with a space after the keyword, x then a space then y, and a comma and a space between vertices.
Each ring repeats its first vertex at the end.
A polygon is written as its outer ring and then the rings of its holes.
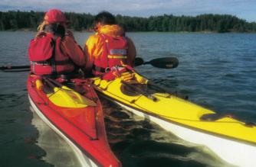
POLYGON ((83 80, 74 80, 75 90, 94 99, 96 107, 62 108, 48 100, 44 91, 35 86, 38 76, 28 77, 28 95, 32 107, 37 108, 57 130, 60 130, 85 156, 97 166, 121 166, 107 143, 103 111, 94 89, 83 80))

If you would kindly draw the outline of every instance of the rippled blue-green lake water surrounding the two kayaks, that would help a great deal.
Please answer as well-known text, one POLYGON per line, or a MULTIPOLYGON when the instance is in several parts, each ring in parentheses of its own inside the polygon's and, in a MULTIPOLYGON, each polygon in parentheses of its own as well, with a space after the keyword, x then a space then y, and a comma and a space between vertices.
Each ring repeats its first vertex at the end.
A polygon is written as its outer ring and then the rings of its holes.
MULTIPOLYGON (((28 64, 34 32, 0 32, 0 66, 28 64)), ((88 33, 75 33, 84 46, 88 33)), ((176 56, 176 69, 139 66, 170 92, 218 113, 256 122, 256 34, 129 33, 145 60, 176 56)), ((29 109, 28 72, 0 72, 0 166, 75 166, 67 144, 29 109)), ((129 112, 103 102, 107 135, 123 166, 230 166, 205 146, 180 140, 129 112)))

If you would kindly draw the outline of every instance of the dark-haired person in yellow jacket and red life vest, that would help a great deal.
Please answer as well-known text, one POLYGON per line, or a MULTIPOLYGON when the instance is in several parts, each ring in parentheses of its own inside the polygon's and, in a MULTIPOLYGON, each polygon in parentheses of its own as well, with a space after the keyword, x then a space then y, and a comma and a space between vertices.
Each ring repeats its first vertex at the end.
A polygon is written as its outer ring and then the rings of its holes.
POLYGON ((86 71, 93 75, 104 75, 113 67, 133 66, 136 48, 117 25, 113 14, 102 11, 94 19, 94 31, 85 43, 86 71))

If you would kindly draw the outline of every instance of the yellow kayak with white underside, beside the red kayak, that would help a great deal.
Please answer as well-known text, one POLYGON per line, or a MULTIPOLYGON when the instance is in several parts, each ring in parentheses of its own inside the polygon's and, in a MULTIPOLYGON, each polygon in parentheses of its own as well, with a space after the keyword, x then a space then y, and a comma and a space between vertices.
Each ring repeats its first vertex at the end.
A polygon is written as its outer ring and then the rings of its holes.
POLYGON ((159 124, 183 140, 205 145, 233 165, 256 164, 256 126, 230 116, 216 117, 202 108, 156 87, 136 72, 123 72, 117 79, 91 79, 104 98, 159 124))

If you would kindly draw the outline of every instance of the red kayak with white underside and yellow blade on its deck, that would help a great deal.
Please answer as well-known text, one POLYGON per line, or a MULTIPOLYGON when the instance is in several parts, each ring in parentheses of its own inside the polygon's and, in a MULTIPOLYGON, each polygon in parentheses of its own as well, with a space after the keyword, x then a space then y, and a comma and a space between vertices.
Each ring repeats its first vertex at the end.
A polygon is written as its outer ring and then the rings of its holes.
POLYGON ((71 86, 29 75, 28 98, 33 110, 71 146, 81 166, 121 166, 107 142, 100 101, 84 79, 71 86))

